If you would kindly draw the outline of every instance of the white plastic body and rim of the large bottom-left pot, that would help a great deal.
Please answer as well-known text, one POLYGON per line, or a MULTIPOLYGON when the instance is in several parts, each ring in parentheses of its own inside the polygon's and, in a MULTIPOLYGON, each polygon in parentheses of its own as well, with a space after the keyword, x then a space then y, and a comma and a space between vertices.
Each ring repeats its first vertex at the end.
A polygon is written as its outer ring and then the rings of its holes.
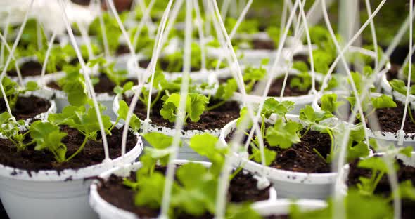
POLYGON ((28 172, 0 164, 0 197, 11 219, 96 218, 88 204, 89 178, 110 168, 134 162, 143 150, 136 134, 136 146, 124 157, 80 168, 28 172))

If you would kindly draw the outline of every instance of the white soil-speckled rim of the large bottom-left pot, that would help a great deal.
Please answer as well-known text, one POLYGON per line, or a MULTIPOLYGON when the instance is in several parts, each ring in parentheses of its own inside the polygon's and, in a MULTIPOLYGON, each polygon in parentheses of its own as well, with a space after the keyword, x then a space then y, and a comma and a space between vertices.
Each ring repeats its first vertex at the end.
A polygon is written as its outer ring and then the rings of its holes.
MULTIPOLYGON (((132 130, 130 130, 132 131, 132 130)), ((120 166, 125 160, 134 160, 143 151, 143 142, 139 133, 134 133, 136 135, 136 145, 127 152, 122 157, 117 157, 108 162, 103 162, 101 164, 95 164, 92 166, 87 166, 84 168, 74 169, 65 169, 63 171, 47 170, 47 171, 27 171, 24 169, 13 168, 10 166, 4 166, 0 164, 0 177, 11 178, 14 180, 27 180, 27 181, 37 181, 37 182, 56 182, 56 181, 65 181, 65 180, 79 180, 83 178, 88 178, 94 175, 99 175, 108 169, 115 166, 120 166)))

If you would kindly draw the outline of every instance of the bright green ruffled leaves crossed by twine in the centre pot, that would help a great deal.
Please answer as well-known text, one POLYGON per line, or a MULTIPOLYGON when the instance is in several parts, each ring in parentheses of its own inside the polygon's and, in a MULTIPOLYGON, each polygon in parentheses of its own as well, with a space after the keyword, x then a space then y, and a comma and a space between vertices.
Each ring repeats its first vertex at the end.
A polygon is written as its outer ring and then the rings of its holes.
MULTIPOLYGON (((174 122, 179 108, 180 94, 172 93, 171 95, 165 95, 162 100, 164 103, 160 110, 160 114, 164 119, 174 122)), ((199 121, 200 115, 205 111, 208 102, 209 100, 205 95, 189 93, 186 99, 186 116, 184 122, 186 122, 188 118, 193 122, 199 121)))

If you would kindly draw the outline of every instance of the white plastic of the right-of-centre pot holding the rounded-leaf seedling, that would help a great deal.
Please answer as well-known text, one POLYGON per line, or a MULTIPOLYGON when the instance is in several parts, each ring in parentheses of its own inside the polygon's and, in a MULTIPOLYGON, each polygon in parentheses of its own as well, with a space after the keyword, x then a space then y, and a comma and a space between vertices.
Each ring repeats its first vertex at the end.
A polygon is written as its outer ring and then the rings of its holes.
MULTIPOLYGON (((286 117, 301 122, 296 115, 288 114, 286 117)), ((273 122, 274 118, 271 118, 269 123, 273 122)), ((226 136, 235 128, 236 120, 226 124, 222 129, 220 140, 224 144, 226 144, 226 136)), ((238 153, 234 153, 231 158, 234 166, 241 166, 251 173, 258 173, 268 178, 280 198, 325 199, 331 194, 331 186, 335 183, 337 175, 337 173, 300 173, 262 166, 238 153)))

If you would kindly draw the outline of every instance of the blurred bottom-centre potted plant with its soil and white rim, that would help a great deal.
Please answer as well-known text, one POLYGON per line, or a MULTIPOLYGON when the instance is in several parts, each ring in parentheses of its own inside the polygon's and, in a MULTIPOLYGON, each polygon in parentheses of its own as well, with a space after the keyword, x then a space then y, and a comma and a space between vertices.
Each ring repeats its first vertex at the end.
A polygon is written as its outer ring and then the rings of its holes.
MULTIPOLYGON (((144 136, 149 142, 155 143, 155 146, 146 148, 146 154, 141 157, 140 163, 114 168, 101 174, 101 180, 96 180, 91 185, 90 204, 100 218, 158 216, 166 180, 165 165, 169 156, 165 150, 171 145, 172 137, 160 133, 148 133, 144 136)), ((212 163, 186 160, 174 162, 177 165, 177 180, 171 194, 170 217, 187 215, 191 218, 212 218, 215 214, 215 191, 227 150, 226 147, 217 146, 217 142, 218 138, 204 134, 195 135, 189 143, 194 150, 209 157, 212 163), (193 196, 193 192, 200 196, 193 196)), ((245 216, 258 218, 257 213, 249 208, 249 204, 243 203, 274 201, 275 191, 269 182, 257 185, 257 178, 251 173, 234 173, 229 179, 230 204, 227 212, 236 215, 245 213, 250 215, 245 216)))

